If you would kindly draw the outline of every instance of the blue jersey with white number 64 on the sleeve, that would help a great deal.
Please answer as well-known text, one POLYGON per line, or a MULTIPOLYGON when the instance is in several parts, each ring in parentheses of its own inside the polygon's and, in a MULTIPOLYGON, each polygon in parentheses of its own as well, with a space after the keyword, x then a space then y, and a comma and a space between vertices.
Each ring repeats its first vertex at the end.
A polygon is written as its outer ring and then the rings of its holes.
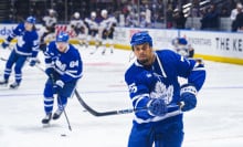
POLYGON ((83 62, 80 52, 68 44, 66 52, 61 53, 55 41, 50 42, 45 55, 46 67, 53 67, 64 83, 82 77, 83 62))

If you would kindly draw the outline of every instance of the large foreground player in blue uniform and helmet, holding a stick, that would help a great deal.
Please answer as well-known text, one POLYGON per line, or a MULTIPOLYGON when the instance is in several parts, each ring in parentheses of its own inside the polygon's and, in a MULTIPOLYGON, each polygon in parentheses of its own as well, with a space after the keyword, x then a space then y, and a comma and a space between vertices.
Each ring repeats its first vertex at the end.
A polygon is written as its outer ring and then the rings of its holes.
POLYGON ((131 36, 137 57, 126 71, 125 81, 135 109, 128 147, 181 147, 183 112, 197 106, 205 71, 203 64, 187 60, 171 50, 152 50, 147 32, 131 36), (178 76, 188 78, 180 86, 178 76))

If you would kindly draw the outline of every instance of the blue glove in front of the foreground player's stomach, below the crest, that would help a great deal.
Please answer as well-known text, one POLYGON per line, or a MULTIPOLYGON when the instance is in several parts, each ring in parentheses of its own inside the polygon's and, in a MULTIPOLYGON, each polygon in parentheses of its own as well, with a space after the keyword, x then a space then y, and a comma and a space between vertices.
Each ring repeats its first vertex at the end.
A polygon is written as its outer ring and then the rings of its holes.
POLYGON ((151 116, 163 116, 167 114, 167 105, 165 103, 165 99, 161 98, 152 98, 147 104, 148 113, 151 116))

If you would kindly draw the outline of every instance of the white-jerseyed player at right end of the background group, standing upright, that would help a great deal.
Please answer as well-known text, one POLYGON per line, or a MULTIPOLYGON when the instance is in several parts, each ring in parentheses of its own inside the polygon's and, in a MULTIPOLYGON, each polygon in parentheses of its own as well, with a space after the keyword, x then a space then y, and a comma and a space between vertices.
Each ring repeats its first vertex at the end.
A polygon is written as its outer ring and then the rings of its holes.
POLYGON ((103 17, 103 21, 101 22, 99 25, 99 34, 102 34, 102 45, 103 45, 103 51, 102 54, 105 54, 106 52, 106 43, 108 42, 110 53, 113 53, 114 50, 114 31, 115 27, 117 25, 117 20, 115 17, 108 17, 107 10, 102 10, 101 15, 103 17))

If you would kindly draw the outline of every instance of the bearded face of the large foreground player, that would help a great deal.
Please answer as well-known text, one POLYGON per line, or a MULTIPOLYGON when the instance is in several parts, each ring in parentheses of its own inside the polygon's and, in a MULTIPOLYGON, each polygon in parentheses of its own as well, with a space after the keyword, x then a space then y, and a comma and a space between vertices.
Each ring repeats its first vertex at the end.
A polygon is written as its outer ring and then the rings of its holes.
POLYGON ((134 46, 134 53, 142 65, 151 65, 154 61, 152 48, 148 43, 134 46))

